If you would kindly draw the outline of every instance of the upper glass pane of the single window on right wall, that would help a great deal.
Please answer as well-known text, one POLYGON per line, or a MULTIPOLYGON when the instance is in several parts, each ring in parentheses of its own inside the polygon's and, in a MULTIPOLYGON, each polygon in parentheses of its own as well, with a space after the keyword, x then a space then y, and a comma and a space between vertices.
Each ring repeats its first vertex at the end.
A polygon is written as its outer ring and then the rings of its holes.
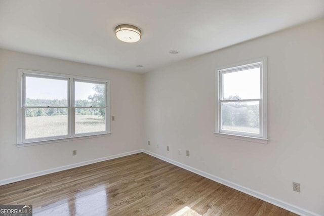
POLYGON ((223 74, 224 100, 259 99, 260 67, 223 74))

